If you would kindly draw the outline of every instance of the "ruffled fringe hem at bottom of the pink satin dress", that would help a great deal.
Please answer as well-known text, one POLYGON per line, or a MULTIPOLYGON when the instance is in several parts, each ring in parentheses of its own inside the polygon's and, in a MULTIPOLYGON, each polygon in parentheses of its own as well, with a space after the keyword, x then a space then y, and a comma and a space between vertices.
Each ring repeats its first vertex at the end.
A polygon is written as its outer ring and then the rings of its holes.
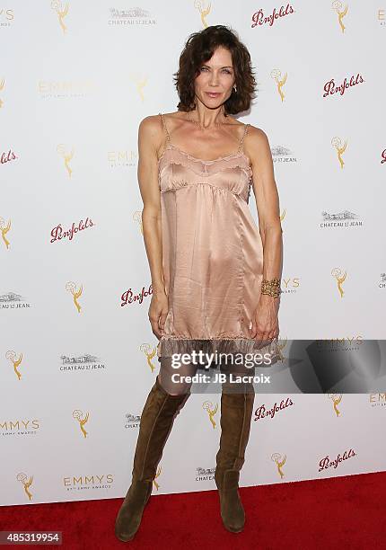
MULTIPOLYGON (((171 357, 174 353, 192 353, 192 351, 202 351, 203 353, 213 353, 219 356, 220 353, 234 354, 260 354, 270 355, 270 363, 261 362, 257 367, 271 367, 278 360, 283 359, 281 353, 282 346, 276 338, 272 342, 253 340, 250 338, 218 338, 206 340, 184 339, 177 337, 162 337, 157 345, 158 360, 171 357)), ((219 358, 221 359, 221 358, 219 358)))

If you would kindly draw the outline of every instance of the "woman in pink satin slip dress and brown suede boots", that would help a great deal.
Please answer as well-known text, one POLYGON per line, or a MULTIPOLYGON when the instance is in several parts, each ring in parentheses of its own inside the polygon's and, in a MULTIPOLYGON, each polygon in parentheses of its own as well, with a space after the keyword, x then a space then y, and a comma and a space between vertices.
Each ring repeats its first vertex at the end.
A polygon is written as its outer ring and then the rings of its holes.
MULTIPOLYGON (((142 412, 133 479, 116 519, 122 541, 139 528, 162 449, 190 395, 190 384, 171 378, 173 354, 204 350, 246 357, 272 350, 279 332, 282 230, 268 137, 230 116, 250 108, 250 54, 223 25, 193 33, 180 56, 176 87, 178 111, 146 117, 138 131, 153 285, 149 319, 160 341, 161 367, 142 412), (248 207, 252 186, 259 229, 248 207)), ((236 367, 225 370, 247 372, 236 367)), ((192 361, 178 372, 196 370, 192 361)), ((215 483, 224 527, 232 532, 245 521, 238 483, 253 401, 252 384, 235 389, 224 382, 215 483)))

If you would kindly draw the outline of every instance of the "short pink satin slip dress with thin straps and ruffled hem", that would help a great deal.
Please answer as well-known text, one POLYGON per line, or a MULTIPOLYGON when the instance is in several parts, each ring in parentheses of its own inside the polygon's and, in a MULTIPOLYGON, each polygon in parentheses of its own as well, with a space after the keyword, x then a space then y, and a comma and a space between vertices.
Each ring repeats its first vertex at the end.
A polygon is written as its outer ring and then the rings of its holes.
POLYGON ((169 311, 157 346, 173 353, 264 353, 250 337, 259 303, 263 246, 248 206, 252 170, 242 152, 202 160, 171 143, 159 159, 162 268, 169 311))

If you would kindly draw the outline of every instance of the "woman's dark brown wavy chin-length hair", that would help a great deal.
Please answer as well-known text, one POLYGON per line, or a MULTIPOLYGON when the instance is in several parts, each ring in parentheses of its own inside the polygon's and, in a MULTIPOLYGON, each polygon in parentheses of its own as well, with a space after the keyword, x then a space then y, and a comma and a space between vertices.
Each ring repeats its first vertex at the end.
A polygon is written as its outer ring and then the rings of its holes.
POLYGON ((250 109, 255 98, 256 80, 250 62, 250 52, 241 43, 235 31, 224 25, 212 25, 203 31, 193 32, 185 42, 180 54, 179 70, 173 74, 174 85, 180 97, 179 111, 195 109, 194 80, 200 74, 200 67, 223 46, 232 55, 237 92, 232 88, 231 96, 224 102, 226 114, 237 114, 250 109))

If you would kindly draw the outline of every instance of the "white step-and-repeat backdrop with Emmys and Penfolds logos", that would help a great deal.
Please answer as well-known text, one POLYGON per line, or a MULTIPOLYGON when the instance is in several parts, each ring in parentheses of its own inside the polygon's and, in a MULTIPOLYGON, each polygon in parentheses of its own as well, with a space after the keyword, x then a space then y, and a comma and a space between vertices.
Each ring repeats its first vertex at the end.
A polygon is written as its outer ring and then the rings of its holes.
MULTIPOLYGON (((126 493, 159 371, 136 177, 189 34, 225 24, 259 93, 284 239, 280 338, 384 336, 386 2, 0 6, 0 503, 126 493)), ((257 220, 253 193, 250 209, 257 220)), ((285 349, 283 350, 285 353, 285 349)), ((215 488, 220 395, 191 395, 154 494, 215 488)), ((256 395, 241 486, 385 470, 384 393, 256 395)))

